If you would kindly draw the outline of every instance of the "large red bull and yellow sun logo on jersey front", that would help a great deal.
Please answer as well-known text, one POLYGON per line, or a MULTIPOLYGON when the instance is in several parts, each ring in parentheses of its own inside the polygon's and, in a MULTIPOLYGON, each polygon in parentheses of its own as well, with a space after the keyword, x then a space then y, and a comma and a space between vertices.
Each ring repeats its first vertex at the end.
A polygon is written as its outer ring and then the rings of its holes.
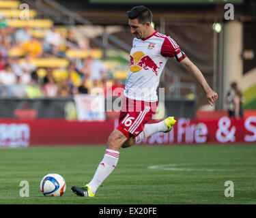
POLYGON ((159 66, 152 60, 148 55, 145 55, 143 52, 138 51, 130 55, 130 72, 136 73, 141 69, 152 69, 152 72, 158 76, 158 69, 160 68, 162 62, 159 63, 159 66))

